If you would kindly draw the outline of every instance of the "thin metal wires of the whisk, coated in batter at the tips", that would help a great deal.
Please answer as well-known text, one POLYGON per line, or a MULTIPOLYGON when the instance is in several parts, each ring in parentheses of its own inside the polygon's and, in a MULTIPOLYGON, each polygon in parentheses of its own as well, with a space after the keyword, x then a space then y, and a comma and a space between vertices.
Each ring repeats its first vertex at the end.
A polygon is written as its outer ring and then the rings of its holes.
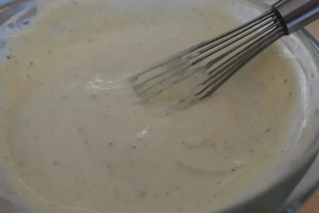
POLYGON ((283 35, 284 30, 283 27, 281 27, 278 17, 276 16, 274 11, 270 10, 231 31, 228 31, 210 40, 201 42, 170 57, 167 57, 166 59, 161 60, 156 64, 144 69, 143 71, 131 76, 129 78, 130 81, 137 81, 140 76, 151 72, 163 65, 166 65, 178 58, 181 58, 181 60, 179 62, 176 62, 174 65, 169 66, 168 68, 162 70, 159 73, 156 73, 146 80, 136 82, 131 87, 133 89, 137 89, 138 87, 145 85, 152 80, 159 79, 156 82, 147 85, 145 88, 137 90, 137 95, 140 95, 145 91, 150 90, 151 88, 159 84, 162 84, 164 81, 171 79, 177 74, 186 71, 190 67, 197 65, 199 62, 204 61, 212 55, 217 54, 227 47, 235 44, 234 47, 224 53, 221 53, 219 56, 208 61, 206 64, 194 70, 186 72, 178 79, 146 96, 141 101, 139 101, 139 103, 143 103, 152 99, 154 96, 159 95, 165 90, 173 87, 177 83, 195 75, 200 71, 209 70, 217 62, 225 59, 227 56, 230 56, 220 65, 208 72, 208 78, 197 85, 200 91, 194 90, 196 91, 194 97, 200 96, 198 97, 199 99, 207 98, 222 84, 224 84, 230 77, 232 77, 239 69, 241 69, 250 60, 252 60, 257 54, 262 52, 283 35), (245 40, 241 41, 242 39, 245 40), (236 52, 236 50, 238 51, 236 52), (231 54, 234 55, 231 56, 231 54))

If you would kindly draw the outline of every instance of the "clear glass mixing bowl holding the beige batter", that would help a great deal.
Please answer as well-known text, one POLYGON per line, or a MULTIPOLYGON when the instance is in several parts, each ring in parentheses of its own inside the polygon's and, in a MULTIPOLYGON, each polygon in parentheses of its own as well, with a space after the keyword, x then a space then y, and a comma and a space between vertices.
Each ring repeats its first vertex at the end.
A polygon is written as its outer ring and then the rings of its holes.
MULTIPOLYGON (((127 3, 125 0, 120 2, 127 3)), ((175 2, 178 3, 178 1, 175 2)), ((238 8, 237 12, 242 15, 241 21, 244 22, 253 18, 260 11, 264 11, 270 3, 271 1, 266 0, 247 0, 249 7, 243 5, 238 8), (255 8, 256 11, 247 12, 247 10, 250 11, 250 8, 255 8)), ((0 39, 3 43, 1 45, 2 51, 5 51, 5 36, 8 35, 8 29, 27 25, 36 15, 37 9, 33 0, 16 1, 5 4, 0 9, 0 23, 3 24, 3 36, 0 39), (14 16, 16 14, 19 15, 14 16), (12 17, 15 18, 11 19, 12 17)), ((300 72, 303 72, 305 77, 302 85, 303 99, 300 101, 300 114, 296 115, 299 118, 297 125, 300 126, 300 131, 296 133, 294 141, 286 147, 286 154, 281 157, 278 164, 274 165, 263 177, 258 178, 255 183, 241 193, 241 196, 227 201, 225 206, 217 212, 292 212, 308 198, 318 185, 319 79, 313 78, 312 72, 318 72, 319 68, 319 42, 305 29, 301 29, 281 41, 287 51, 293 52, 293 57, 298 59, 300 72)), ((4 93, 5 91, 0 91, 0 103, 2 104, 5 102, 4 93)), ((5 109, 1 108, 0 110, 2 110, 2 114, 6 113, 5 109)), ((1 125, 5 125, 4 119, 1 121, 1 125)), ((3 136, 1 136, 1 140, 4 140, 3 136)), ((2 150, 0 155, 6 158, 5 150, 2 150)), ((3 160, 3 158, 0 159, 3 160)), ((15 186, 12 186, 6 166, 0 167, 0 188, 0 209, 5 209, 5 213, 39 211, 36 206, 32 206, 24 199, 23 191, 20 192, 15 186)))

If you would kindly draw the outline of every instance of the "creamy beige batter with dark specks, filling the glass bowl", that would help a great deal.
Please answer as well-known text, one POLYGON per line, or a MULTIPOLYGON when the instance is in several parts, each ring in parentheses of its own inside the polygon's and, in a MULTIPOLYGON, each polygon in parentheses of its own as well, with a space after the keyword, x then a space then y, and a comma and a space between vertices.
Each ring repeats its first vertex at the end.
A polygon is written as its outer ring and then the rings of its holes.
POLYGON ((32 205, 209 212, 283 154, 300 80, 276 45, 186 110, 166 111, 198 82, 138 106, 124 89, 145 66, 237 26, 221 3, 62 2, 15 32, 0 65, 10 100, 1 147, 32 205))

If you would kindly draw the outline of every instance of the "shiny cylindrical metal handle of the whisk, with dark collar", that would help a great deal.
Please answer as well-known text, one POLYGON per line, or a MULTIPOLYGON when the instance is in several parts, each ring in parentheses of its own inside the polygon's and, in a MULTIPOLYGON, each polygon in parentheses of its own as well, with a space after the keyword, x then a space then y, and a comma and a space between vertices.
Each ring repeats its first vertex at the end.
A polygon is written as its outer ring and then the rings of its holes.
POLYGON ((281 16, 287 35, 319 19, 319 0, 279 0, 272 8, 281 16))

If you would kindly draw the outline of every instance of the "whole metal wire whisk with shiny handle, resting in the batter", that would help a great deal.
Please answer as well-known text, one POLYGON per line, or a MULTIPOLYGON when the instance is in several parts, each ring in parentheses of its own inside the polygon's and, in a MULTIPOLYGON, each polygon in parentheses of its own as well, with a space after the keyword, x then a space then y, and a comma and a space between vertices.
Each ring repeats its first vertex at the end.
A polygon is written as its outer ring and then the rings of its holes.
POLYGON ((319 0, 280 0, 257 18, 175 53, 131 76, 129 80, 133 82, 132 88, 136 90, 137 95, 140 95, 173 77, 179 77, 139 101, 143 103, 198 72, 207 72, 207 79, 192 90, 193 98, 202 100, 214 93, 237 71, 278 39, 296 32, 318 18, 319 0), (204 60, 204 65, 196 67, 204 60), (156 70, 164 66, 168 68, 159 72, 156 70), (139 82, 140 77, 149 72, 155 73, 139 82))

